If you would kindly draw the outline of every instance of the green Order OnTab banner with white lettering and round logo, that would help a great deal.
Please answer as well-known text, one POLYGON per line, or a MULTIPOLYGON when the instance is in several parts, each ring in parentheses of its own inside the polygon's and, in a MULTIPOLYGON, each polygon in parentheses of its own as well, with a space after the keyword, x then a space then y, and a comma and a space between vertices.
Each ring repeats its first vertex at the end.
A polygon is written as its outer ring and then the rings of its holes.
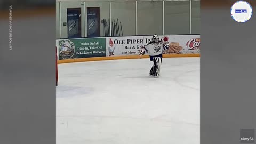
POLYGON ((106 56, 105 38, 79 38, 59 40, 59 59, 106 56))

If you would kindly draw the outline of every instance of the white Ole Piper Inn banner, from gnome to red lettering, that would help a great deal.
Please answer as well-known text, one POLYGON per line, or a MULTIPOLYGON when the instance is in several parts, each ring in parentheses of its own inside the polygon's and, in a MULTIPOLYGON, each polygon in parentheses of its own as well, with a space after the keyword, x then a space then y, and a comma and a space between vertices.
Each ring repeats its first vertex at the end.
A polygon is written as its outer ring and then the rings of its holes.
MULTIPOLYGON (((200 35, 165 35, 170 48, 164 54, 200 53, 200 35)), ((106 56, 137 55, 141 46, 147 45, 152 36, 107 37, 106 56)))

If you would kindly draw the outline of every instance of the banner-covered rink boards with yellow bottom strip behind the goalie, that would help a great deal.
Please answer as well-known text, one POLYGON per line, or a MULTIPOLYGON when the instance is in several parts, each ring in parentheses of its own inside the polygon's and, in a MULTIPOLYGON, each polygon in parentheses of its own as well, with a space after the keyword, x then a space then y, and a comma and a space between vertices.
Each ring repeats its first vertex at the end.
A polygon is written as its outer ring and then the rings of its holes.
MULTIPOLYGON (((148 56, 140 57, 138 52, 142 46, 145 46, 151 41, 151 37, 152 36, 120 36, 57 39, 56 47, 58 60, 64 60, 62 63, 67 63, 148 58, 148 56)), ((201 44, 200 35, 159 36, 159 38, 163 37, 169 37, 169 49, 163 51, 163 54, 166 55, 164 57, 199 57, 201 44)))

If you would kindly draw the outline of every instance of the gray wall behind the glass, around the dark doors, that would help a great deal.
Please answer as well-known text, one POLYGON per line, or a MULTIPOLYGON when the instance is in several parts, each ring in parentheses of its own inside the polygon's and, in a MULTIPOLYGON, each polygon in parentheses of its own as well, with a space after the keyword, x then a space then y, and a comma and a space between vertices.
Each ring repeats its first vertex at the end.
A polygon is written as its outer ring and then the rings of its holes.
MULTIPOLYGON (((200 34, 200 1, 191 0, 191 34, 200 34)), ((122 22, 123 35, 136 35, 136 9, 135 0, 132 1, 111 1, 111 18, 122 22)), ((100 7, 100 20, 109 20, 109 1, 86 1, 85 7, 100 7)), ((189 34, 189 7, 190 1, 165 1, 164 4, 164 34, 189 34)), ((86 14, 84 17, 84 5, 82 1, 77 0, 57 0, 56 3, 56 38, 67 38, 67 8, 81 8, 82 14, 82 37, 86 24, 86 14), (61 17, 59 14, 59 2, 61 1, 61 17), (60 26, 59 19, 62 25, 60 26)), ((85 8, 86 9, 86 8, 85 8)), ((86 10, 87 11, 87 10, 86 10)), ((85 12, 86 12, 85 11, 85 12)), ((138 35, 162 35, 162 1, 138 1, 138 35)), ((100 34, 104 35, 103 24, 100 24, 100 34)))

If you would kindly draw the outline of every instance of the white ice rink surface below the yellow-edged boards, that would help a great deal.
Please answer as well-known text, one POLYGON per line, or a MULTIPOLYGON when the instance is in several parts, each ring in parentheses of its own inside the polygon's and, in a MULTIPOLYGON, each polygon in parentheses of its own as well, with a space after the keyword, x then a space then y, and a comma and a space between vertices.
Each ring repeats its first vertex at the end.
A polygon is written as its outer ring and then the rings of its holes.
POLYGON ((59 67, 57 144, 199 144, 200 59, 66 63, 59 67))

